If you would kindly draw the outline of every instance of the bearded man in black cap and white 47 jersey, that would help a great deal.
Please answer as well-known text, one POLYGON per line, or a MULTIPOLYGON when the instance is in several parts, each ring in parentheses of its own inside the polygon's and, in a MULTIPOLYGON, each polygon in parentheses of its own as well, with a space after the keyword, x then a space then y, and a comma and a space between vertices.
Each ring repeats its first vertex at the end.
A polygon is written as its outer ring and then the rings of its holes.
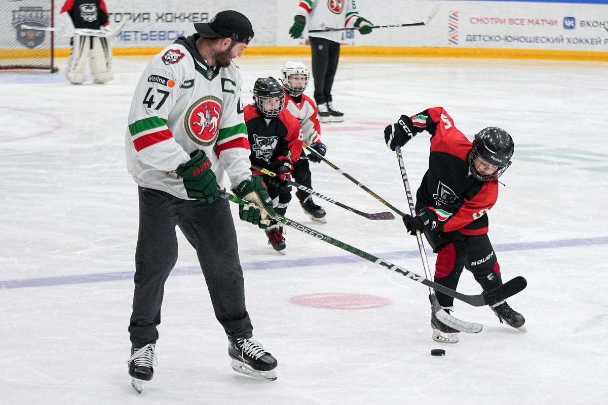
POLYGON ((156 365, 164 283, 178 258, 176 226, 196 249, 233 369, 277 378, 275 358, 251 340, 237 236, 229 202, 218 196, 227 172, 233 193, 255 203, 240 207, 241 219, 265 229, 274 215, 261 178, 250 172, 242 79, 232 62, 254 32, 231 10, 194 26, 195 35, 148 64, 128 118, 126 158, 139 186, 140 219, 127 363, 138 392, 156 365))

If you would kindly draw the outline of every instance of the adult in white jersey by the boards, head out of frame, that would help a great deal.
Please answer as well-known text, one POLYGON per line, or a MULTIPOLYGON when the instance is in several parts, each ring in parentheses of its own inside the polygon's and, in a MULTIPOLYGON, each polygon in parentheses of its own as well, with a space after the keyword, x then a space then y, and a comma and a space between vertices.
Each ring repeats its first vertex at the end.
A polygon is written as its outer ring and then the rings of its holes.
MULTIPOLYGON (((371 22, 359 16, 355 0, 300 0, 289 30, 291 38, 302 36, 306 22, 308 30, 358 27, 362 35, 370 33, 373 27, 371 22)), ((320 122, 344 121, 344 113, 334 109, 331 96, 340 59, 341 35, 340 32, 308 33, 313 52, 314 101, 320 122)))

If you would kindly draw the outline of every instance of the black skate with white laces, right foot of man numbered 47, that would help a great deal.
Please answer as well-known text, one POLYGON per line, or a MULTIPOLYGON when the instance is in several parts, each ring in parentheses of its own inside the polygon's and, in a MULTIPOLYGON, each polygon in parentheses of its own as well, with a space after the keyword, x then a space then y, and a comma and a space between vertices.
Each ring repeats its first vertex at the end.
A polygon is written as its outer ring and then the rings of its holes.
POLYGON ((277 379, 277 359, 266 352, 261 344, 252 339, 228 336, 228 355, 232 358, 232 369, 251 377, 274 381, 277 379))

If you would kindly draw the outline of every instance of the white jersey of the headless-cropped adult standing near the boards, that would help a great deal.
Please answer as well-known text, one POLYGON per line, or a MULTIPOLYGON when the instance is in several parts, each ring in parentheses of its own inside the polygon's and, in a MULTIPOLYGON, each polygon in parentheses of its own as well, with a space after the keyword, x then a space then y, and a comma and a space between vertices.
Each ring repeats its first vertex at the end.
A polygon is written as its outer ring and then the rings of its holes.
MULTIPOLYGON (((300 0, 295 15, 306 17, 308 30, 352 28, 361 17, 355 0, 300 0)), ((308 36, 340 42, 342 32, 313 32, 308 36)))

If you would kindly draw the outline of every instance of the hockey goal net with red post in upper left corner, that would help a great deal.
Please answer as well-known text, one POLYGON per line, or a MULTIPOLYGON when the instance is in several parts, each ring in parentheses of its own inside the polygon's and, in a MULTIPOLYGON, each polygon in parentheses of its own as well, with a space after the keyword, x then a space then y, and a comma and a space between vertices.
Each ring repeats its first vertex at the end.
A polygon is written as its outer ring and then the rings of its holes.
POLYGON ((0 1, 0 69, 48 69, 54 65, 54 0, 0 1))

